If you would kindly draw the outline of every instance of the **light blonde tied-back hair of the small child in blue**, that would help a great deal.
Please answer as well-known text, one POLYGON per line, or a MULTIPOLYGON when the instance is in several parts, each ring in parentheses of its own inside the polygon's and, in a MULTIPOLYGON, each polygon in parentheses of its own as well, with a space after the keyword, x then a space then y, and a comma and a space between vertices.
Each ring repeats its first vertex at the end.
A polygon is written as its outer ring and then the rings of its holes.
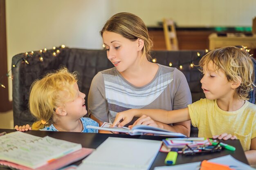
POLYGON ((75 73, 69 73, 67 68, 62 67, 33 82, 30 88, 29 109, 38 121, 34 122, 32 130, 44 128, 56 121, 53 117, 56 108, 65 106, 65 103, 71 102, 76 95, 76 77, 75 73), (43 124, 44 121, 46 124, 43 124))

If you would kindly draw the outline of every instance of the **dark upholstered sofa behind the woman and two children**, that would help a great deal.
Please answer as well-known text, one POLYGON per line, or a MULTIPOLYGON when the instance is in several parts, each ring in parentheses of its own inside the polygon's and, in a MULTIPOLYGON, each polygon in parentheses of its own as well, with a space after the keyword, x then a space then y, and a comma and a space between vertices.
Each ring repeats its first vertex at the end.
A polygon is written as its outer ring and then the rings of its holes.
MULTIPOLYGON (((198 64, 200 60, 198 54, 202 57, 205 51, 152 51, 151 53, 157 63, 169 66, 171 62, 172 67, 177 67, 184 73, 191 90, 192 102, 205 97, 200 84, 201 73, 196 67, 190 66, 191 62, 198 64)), ((69 48, 35 51, 33 54, 20 53, 12 58, 12 65, 15 65, 12 69, 14 125, 32 124, 35 121, 28 110, 29 89, 35 79, 58 69, 61 65, 67 66, 70 72, 78 71, 79 89, 86 94, 87 106, 87 96, 94 75, 113 67, 106 56, 106 51, 69 48), (57 50, 60 52, 58 53, 57 50)), ((191 128, 191 133, 196 134, 196 132, 197 128, 191 128)))

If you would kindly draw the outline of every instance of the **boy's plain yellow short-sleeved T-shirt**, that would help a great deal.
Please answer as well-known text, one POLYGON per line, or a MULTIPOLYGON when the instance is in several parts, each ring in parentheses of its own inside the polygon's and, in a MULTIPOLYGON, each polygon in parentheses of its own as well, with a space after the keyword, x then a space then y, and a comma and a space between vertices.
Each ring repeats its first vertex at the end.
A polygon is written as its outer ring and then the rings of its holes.
POLYGON ((221 110, 216 100, 200 99, 188 105, 193 126, 198 127, 198 137, 212 137, 227 133, 235 135, 243 150, 250 150, 251 139, 256 137, 256 105, 245 101, 238 110, 221 110))

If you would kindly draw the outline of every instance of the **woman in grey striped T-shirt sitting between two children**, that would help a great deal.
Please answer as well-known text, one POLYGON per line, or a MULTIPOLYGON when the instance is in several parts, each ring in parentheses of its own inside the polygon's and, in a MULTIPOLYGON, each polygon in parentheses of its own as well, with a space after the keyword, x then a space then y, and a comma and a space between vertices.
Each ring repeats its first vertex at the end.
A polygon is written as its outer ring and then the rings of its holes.
MULTIPOLYGON (((108 59, 114 68, 94 76, 88 95, 88 113, 99 123, 112 123, 118 112, 130 108, 175 110, 191 104, 182 72, 150 62, 152 41, 144 22, 131 13, 113 15, 101 30, 108 59)), ((190 121, 173 126, 146 117, 143 124, 189 136, 190 121)))

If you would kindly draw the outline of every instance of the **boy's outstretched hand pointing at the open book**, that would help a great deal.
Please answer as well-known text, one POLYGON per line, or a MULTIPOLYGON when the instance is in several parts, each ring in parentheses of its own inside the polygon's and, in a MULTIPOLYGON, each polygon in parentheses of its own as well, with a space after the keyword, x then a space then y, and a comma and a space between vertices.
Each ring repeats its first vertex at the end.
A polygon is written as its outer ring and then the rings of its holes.
POLYGON ((130 109, 117 113, 115 121, 113 122, 111 127, 115 127, 116 125, 118 127, 123 127, 124 125, 130 123, 130 121, 132 121, 132 118, 134 117, 133 111, 134 109, 130 109))

